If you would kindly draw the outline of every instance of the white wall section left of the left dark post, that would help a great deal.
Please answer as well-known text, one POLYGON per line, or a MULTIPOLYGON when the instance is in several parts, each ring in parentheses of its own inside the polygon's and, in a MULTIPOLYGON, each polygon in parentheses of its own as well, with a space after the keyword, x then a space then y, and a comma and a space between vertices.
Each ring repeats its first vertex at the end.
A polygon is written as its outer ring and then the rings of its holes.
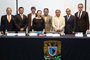
POLYGON ((10 7, 12 9, 12 14, 16 14, 16 0, 0 0, 0 25, 1 16, 6 14, 6 8, 10 7))

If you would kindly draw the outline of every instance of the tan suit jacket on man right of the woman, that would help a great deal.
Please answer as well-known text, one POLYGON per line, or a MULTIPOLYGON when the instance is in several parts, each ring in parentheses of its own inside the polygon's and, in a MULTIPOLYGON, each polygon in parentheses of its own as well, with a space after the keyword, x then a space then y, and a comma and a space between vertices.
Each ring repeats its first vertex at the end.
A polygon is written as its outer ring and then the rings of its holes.
MULTIPOLYGON (((45 20, 45 16, 42 15, 43 19, 45 20)), ((50 15, 47 16, 47 20, 45 22, 45 31, 49 32, 52 30, 52 17, 50 15)))

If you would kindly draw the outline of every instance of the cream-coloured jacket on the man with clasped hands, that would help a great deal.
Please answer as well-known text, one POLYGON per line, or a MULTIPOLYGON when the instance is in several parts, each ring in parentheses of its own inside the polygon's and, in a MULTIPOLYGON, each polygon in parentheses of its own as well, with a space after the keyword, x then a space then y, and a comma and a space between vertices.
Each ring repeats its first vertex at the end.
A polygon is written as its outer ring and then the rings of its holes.
MULTIPOLYGON (((52 27, 53 27, 53 31, 56 32, 57 29, 58 29, 57 17, 53 17, 53 19, 52 19, 52 27)), ((60 16, 60 23, 59 23, 60 33, 64 33, 64 27, 65 27, 65 18, 60 16)))

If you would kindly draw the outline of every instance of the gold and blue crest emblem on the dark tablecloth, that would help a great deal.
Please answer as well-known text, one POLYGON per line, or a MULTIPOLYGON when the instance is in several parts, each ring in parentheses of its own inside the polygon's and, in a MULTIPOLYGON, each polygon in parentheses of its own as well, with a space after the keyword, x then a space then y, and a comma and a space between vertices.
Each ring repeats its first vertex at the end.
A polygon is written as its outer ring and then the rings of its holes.
POLYGON ((44 41, 44 58, 45 60, 60 60, 61 41, 57 40, 44 41))

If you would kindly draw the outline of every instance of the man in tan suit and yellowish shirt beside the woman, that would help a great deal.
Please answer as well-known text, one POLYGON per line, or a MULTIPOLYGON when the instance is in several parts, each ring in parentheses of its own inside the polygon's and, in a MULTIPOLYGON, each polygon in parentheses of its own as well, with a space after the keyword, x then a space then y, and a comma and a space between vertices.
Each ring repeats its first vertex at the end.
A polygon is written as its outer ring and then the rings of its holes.
POLYGON ((42 17, 45 20, 45 32, 51 32, 52 31, 52 17, 48 15, 49 9, 45 8, 44 9, 44 15, 42 17))

